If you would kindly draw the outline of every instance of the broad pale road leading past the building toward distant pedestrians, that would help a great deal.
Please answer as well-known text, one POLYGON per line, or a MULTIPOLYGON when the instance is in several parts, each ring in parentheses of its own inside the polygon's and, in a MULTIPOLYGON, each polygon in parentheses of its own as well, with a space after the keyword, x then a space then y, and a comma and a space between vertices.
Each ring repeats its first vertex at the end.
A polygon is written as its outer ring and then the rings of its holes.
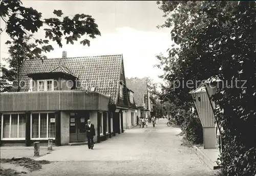
POLYGON ((87 146, 63 146, 38 158, 54 161, 30 175, 215 175, 194 153, 181 146, 178 128, 167 127, 166 120, 155 128, 134 128, 123 134, 87 146))

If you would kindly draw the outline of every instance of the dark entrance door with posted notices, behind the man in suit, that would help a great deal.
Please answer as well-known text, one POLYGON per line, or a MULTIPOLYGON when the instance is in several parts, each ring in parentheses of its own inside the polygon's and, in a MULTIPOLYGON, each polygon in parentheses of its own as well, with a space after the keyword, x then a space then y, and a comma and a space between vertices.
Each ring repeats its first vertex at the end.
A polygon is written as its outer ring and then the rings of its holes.
POLYGON ((88 113, 70 113, 70 142, 86 141, 88 113))

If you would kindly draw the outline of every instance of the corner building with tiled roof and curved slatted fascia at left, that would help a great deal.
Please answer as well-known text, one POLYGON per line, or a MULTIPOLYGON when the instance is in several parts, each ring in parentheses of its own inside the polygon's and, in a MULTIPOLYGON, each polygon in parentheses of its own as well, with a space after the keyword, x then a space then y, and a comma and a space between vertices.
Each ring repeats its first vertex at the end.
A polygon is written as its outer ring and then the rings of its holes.
POLYGON ((123 56, 65 55, 26 60, 19 87, 14 82, 11 92, 1 93, 5 102, 0 105, 1 143, 29 146, 49 138, 56 145, 86 141, 88 119, 95 125, 98 142, 123 132, 123 114, 136 109, 126 88, 123 56))

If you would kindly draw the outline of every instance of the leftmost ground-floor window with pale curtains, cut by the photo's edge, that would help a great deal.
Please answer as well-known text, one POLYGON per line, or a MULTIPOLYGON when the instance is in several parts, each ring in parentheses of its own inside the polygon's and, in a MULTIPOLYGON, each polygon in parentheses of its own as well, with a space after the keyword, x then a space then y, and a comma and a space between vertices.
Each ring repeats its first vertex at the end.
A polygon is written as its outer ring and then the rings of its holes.
POLYGON ((2 139, 22 139, 26 135, 25 114, 3 114, 2 115, 2 139))

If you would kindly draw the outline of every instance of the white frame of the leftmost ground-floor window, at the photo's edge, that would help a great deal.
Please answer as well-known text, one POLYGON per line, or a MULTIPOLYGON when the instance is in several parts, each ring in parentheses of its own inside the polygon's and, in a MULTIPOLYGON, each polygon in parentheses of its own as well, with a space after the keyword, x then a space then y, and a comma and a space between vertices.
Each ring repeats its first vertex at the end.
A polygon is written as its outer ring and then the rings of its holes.
MULTIPOLYGON (((19 132, 19 114, 25 114, 24 112, 15 112, 15 113, 3 113, 2 116, 1 116, 1 140, 25 140, 26 139, 26 136, 25 137, 22 137, 22 138, 19 138, 19 137, 16 137, 16 138, 11 138, 11 116, 12 114, 18 114, 18 121, 17 121, 17 124, 18 124, 18 128, 17 128, 17 136, 18 136, 18 132, 19 132), (10 115, 10 124, 9 124, 9 138, 4 138, 4 115, 6 114, 9 114, 10 115)), ((26 118, 26 114, 25 114, 25 118, 26 118)), ((26 128, 25 128, 25 135, 26 135, 26 128)))

